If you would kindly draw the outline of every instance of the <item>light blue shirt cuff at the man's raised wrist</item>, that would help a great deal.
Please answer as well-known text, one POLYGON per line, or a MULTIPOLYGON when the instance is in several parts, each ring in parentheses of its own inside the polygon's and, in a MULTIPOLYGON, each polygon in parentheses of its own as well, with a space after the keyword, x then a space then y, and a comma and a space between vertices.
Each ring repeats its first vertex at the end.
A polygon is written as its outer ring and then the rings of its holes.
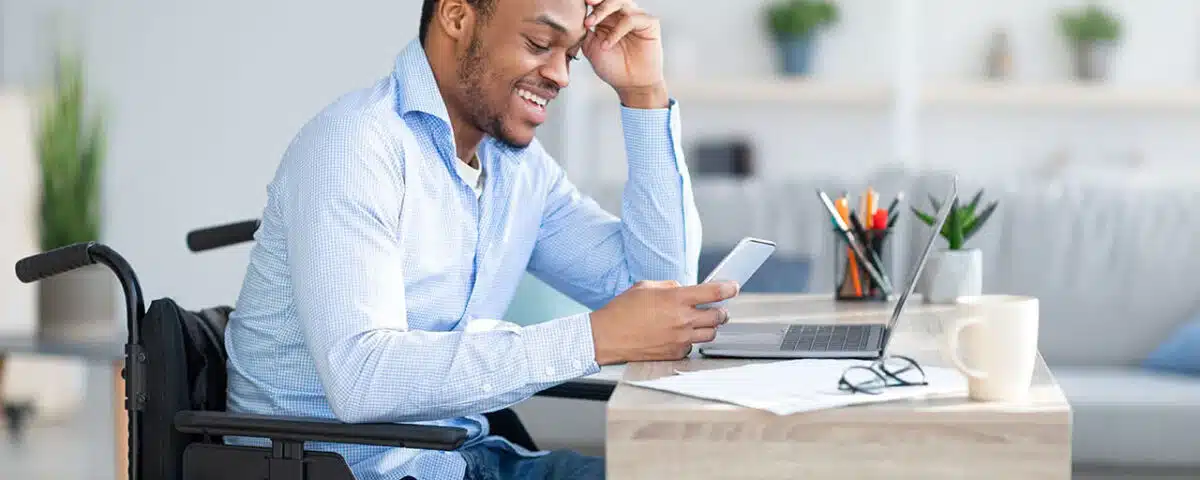
POLYGON ((625 156, 629 158, 630 172, 638 174, 662 172, 673 167, 673 172, 684 172, 684 155, 679 132, 679 106, 674 98, 667 108, 629 108, 620 107, 620 122, 625 136, 625 156))

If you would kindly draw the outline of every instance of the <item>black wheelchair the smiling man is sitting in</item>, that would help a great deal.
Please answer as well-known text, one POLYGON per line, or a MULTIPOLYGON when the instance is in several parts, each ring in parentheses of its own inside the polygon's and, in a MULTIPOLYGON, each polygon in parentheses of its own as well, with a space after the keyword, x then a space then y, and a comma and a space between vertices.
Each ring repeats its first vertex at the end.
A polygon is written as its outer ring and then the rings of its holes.
MULTIPOLYGON (((203 228, 187 234, 187 246, 203 252, 252 241, 257 229, 257 220, 203 228)), ((31 283, 97 263, 116 275, 125 296, 121 377, 130 480, 354 480, 341 455, 306 450, 305 442, 451 451, 467 440, 466 430, 457 427, 227 412, 224 328, 233 307, 188 310, 170 298, 146 306, 133 268, 104 244, 79 242, 25 257, 17 262, 16 274, 31 283), (226 445, 227 436, 265 438, 271 446, 226 445)), ((612 385, 568 382, 536 395, 606 401, 612 390, 612 385)), ((486 416, 493 434, 536 449, 511 409, 486 416)))

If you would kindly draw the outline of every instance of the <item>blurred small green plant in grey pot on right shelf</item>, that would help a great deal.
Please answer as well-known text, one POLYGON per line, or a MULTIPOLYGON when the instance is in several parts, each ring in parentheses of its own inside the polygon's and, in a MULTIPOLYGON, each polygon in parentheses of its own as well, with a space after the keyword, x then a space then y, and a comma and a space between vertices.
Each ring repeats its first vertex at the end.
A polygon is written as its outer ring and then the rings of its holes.
POLYGON ((1121 20, 1097 5, 1088 5, 1061 12, 1058 29, 1070 48, 1074 77, 1084 82, 1104 79, 1112 48, 1121 40, 1121 20))

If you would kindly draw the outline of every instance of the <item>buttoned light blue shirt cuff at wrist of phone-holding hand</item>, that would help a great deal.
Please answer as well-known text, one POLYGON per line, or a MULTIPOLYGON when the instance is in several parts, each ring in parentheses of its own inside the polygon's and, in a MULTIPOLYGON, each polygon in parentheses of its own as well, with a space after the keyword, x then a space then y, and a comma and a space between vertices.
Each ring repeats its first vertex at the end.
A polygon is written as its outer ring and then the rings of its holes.
POLYGON ((563 383, 600 371, 590 313, 526 326, 523 337, 530 383, 563 383))

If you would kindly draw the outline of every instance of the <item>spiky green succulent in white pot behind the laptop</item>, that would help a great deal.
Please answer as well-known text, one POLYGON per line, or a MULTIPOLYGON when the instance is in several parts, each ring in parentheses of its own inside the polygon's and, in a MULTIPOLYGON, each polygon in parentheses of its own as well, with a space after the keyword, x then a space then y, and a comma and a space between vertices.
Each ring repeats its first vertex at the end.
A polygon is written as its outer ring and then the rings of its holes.
MULTIPOLYGON (((922 275, 919 287, 926 302, 950 304, 959 296, 983 293, 983 252, 978 248, 966 247, 966 242, 979 233, 998 206, 997 202, 992 202, 979 210, 983 192, 983 190, 976 192, 966 206, 960 205, 958 198, 950 205, 950 214, 942 226, 942 232, 940 232, 947 246, 929 258, 922 275)), ((934 197, 930 197, 929 202, 936 215, 942 209, 941 202, 934 197)), ((930 227, 934 226, 935 215, 926 214, 916 206, 912 206, 912 211, 922 222, 930 227)))

